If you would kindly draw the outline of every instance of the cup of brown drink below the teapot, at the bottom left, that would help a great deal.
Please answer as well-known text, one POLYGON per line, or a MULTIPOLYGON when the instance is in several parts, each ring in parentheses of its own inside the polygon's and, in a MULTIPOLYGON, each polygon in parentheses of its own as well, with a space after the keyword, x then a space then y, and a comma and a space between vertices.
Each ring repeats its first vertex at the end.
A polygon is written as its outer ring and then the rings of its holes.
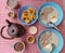
POLYGON ((16 51, 16 53, 22 53, 25 50, 25 43, 24 42, 16 42, 14 44, 14 50, 16 51))

